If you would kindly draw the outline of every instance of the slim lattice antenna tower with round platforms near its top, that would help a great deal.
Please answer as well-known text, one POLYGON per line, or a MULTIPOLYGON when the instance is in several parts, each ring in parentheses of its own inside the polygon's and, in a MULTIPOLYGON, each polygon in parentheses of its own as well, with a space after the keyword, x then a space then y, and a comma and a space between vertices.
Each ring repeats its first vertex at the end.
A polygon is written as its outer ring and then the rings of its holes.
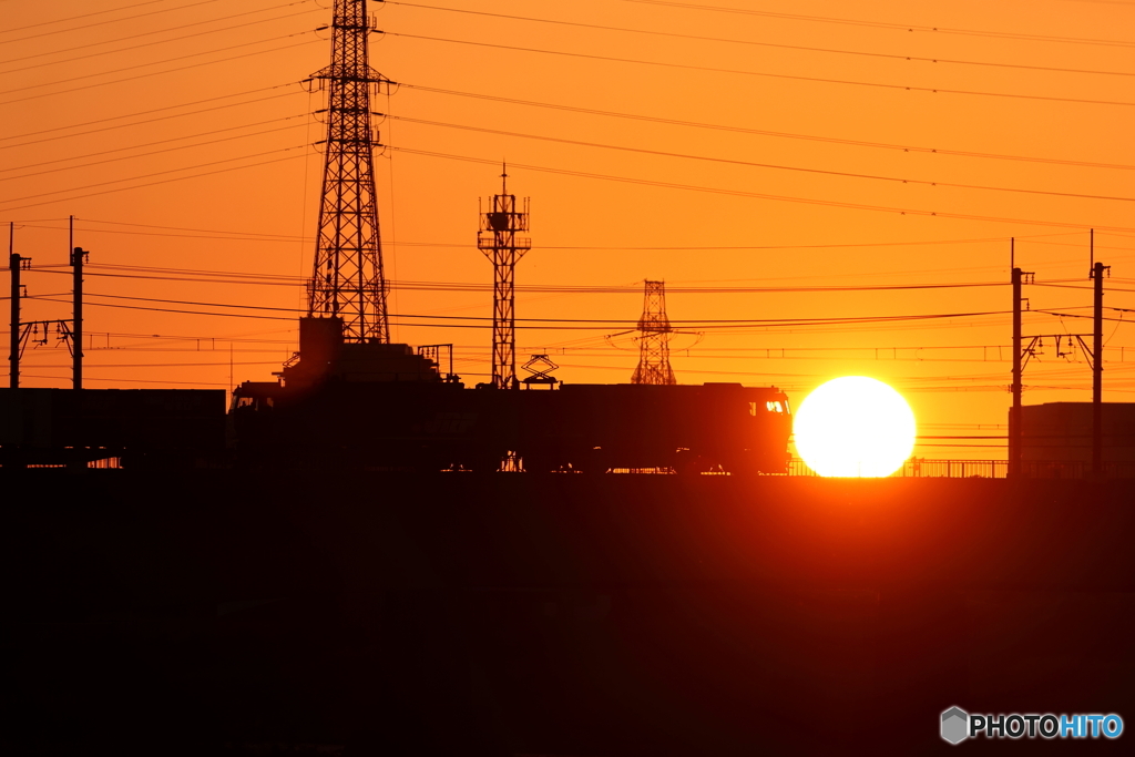
POLYGON ((516 236, 528 230, 528 197, 518 205, 516 195, 508 194, 508 171, 501 174, 501 194, 487 200, 480 212, 477 249, 493 263, 493 386, 511 389, 516 382, 516 263, 532 244, 516 236))

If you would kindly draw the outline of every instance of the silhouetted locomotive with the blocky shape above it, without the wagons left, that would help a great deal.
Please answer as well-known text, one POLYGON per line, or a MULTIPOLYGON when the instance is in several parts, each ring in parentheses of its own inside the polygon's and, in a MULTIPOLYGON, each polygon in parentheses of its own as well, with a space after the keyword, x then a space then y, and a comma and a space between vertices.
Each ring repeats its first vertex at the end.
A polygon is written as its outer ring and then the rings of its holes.
POLYGON ((235 462, 413 471, 783 473, 791 411, 775 387, 562 384, 465 387, 439 355, 345 343, 303 318, 277 381, 245 381, 229 412, 235 462))

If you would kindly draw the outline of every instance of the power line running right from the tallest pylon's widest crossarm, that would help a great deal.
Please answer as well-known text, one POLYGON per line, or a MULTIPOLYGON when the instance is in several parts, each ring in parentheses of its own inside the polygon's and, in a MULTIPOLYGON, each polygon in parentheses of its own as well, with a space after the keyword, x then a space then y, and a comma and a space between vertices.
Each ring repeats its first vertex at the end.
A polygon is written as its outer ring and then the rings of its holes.
POLYGON ((857 148, 875 148, 881 150, 897 150, 900 152, 920 152, 931 154, 942 154, 942 155, 956 155, 961 158, 985 158, 992 160, 1014 160, 1024 162, 1036 162, 1036 163, 1053 163, 1059 166, 1081 166, 1085 168, 1117 168, 1123 170, 1135 170, 1135 166, 1127 166, 1121 163, 1100 163, 1091 162, 1084 160, 1063 160, 1059 158, 1033 158, 1026 155, 1002 155, 989 152, 973 152, 966 150, 943 150, 940 148, 919 148, 905 144, 890 144, 886 142, 865 142, 861 140, 842 140, 839 137, 831 136, 817 136, 810 134, 793 134, 790 132, 770 132, 765 129, 747 128, 741 126, 728 126, 722 124, 706 124, 701 121, 688 121, 675 118, 659 118, 657 116, 641 116, 636 113, 623 113, 611 110, 597 110, 594 108, 579 108, 573 106, 555 104, 549 102, 533 102, 531 100, 518 100, 514 98, 503 98, 490 94, 478 94, 474 92, 460 92, 456 90, 442 90, 437 87, 422 86, 419 84, 406 84, 400 83, 400 86, 409 87, 411 90, 418 90, 420 92, 431 92, 435 94, 447 94, 452 96, 461 98, 473 98, 477 100, 488 100, 493 102, 504 102, 514 106, 528 106, 533 108, 547 108, 550 110, 561 110, 565 112, 578 112, 590 116, 604 116, 608 118, 625 118, 629 120, 647 121, 654 124, 666 124, 671 126, 686 126, 691 128, 704 128, 713 129, 718 132, 732 132, 737 134, 755 134, 759 136, 772 136, 788 140, 805 140, 808 142, 824 142, 829 144, 847 144, 857 148))

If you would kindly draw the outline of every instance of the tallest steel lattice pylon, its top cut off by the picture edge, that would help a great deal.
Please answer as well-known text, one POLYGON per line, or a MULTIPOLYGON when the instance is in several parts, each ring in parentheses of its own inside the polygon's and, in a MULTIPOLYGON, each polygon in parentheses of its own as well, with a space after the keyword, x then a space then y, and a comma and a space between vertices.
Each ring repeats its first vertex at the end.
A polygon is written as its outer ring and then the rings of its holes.
POLYGON ((308 314, 342 318, 346 342, 388 343, 370 93, 371 87, 390 82, 368 62, 367 0, 335 0, 331 30, 331 65, 312 75, 312 81, 327 83, 328 103, 327 160, 308 314))

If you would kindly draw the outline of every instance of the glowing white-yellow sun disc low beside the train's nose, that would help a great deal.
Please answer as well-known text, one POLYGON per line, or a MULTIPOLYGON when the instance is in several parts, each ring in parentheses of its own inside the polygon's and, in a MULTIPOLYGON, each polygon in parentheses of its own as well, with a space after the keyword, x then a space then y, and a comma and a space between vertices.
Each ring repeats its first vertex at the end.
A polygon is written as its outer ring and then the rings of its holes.
POLYGON ((898 392, 864 376, 809 394, 792 424, 796 448, 821 476, 890 476, 915 446, 915 414, 898 392))

